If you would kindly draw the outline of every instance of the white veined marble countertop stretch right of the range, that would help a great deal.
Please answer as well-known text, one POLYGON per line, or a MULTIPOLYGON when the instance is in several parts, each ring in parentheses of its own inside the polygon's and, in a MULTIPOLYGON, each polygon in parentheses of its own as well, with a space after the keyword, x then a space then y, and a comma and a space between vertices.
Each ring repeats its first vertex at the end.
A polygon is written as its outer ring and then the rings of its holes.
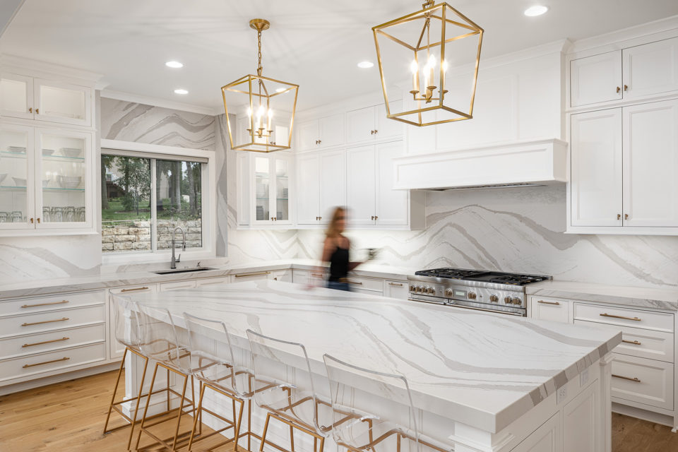
POLYGON ((626 304, 632 307, 678 310, 678 289, 652 289, 648 287, 627 287, 575 283, 572 281, 542 281, 525 287, 528 295, 557 297, 626 304))

